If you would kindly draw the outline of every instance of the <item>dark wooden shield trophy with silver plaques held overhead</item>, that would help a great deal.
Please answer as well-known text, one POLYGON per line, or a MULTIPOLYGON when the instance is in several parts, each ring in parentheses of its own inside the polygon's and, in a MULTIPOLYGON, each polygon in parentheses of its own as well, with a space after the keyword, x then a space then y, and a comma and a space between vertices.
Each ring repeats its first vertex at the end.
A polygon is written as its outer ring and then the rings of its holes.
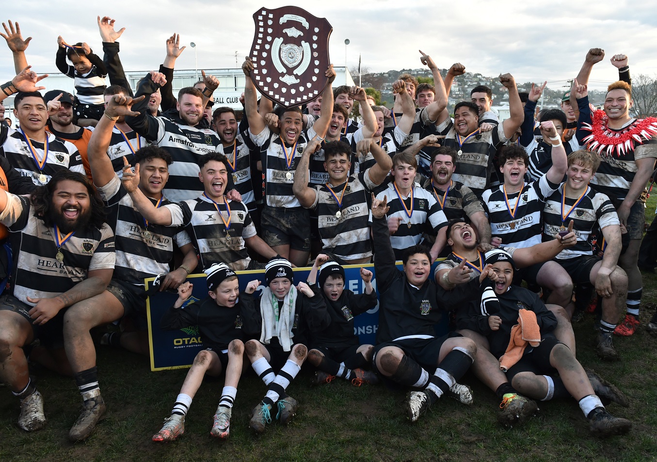
POLYGON ((333 28, 298 7, 261 8, 249 54, 251 79, 265 98, 286 108, 317 99, 328 83, 328 37, 333 28))

